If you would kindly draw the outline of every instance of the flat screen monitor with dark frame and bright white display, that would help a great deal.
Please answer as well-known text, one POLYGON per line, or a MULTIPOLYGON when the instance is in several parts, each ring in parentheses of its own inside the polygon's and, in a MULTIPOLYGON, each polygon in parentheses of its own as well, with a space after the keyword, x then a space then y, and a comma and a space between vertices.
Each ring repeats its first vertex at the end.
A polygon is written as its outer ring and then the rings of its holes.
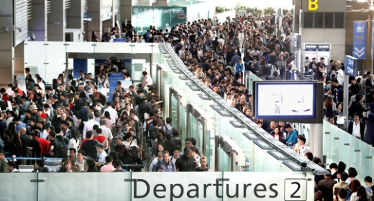
POLYGON ((253 84, 256 118, 282 122, 322 122, 323 84, 318 82, 272 82, 253 84))

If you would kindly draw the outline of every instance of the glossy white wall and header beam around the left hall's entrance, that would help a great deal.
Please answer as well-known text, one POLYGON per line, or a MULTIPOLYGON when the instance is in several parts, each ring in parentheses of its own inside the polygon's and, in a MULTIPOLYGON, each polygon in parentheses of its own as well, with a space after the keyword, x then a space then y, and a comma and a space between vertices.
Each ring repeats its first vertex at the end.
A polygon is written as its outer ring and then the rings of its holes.
MULTIPOLYGON (((96 46, 92 46, 93 44, 91 42, 25 41, 24 68, 33 68, 34 70, 30 72, 32 75, 39 73, 47 84, 51 84, 52 79, 58 77, 66 68, 66 52, 159 53, 157 44, 96 43, 96 46)), ((73 59, 69 59, 68 62, 69 68, 73 68, 73 59)), ((89 59, 88 70, 94 70, 94 63, 89 59)))

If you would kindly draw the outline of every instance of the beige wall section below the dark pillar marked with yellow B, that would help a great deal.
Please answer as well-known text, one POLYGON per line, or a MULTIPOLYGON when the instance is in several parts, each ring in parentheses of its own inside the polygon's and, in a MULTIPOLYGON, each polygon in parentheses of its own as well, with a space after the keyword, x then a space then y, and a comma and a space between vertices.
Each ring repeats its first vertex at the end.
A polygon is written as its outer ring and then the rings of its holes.
POLYGON ((303 28, 301 42, 331 44, 331 59, 344 61, 346 52, 346 30, 344 28, 303 28))

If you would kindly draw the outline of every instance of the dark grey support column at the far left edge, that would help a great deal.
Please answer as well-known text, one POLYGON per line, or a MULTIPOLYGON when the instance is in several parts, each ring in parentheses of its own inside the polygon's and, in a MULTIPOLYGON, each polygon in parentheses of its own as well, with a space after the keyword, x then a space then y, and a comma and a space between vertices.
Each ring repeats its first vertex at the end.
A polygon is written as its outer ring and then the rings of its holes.
POLYGON ((13 10, 12 0, 0 1, 0 87, 6 87, 14 80, 13 10), (9 28, 7 32, 6 26, 9 28))

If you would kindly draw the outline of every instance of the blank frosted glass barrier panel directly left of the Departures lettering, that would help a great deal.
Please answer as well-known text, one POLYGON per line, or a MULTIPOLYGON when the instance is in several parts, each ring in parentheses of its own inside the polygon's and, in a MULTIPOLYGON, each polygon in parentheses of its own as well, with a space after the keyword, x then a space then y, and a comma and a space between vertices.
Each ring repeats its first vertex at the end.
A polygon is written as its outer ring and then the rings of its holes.
POLYGON ((108 200, 114 195, 131 199, 130 172, 39 173, 39 180, 44 180, 39 182, 39 200, 108 200))

